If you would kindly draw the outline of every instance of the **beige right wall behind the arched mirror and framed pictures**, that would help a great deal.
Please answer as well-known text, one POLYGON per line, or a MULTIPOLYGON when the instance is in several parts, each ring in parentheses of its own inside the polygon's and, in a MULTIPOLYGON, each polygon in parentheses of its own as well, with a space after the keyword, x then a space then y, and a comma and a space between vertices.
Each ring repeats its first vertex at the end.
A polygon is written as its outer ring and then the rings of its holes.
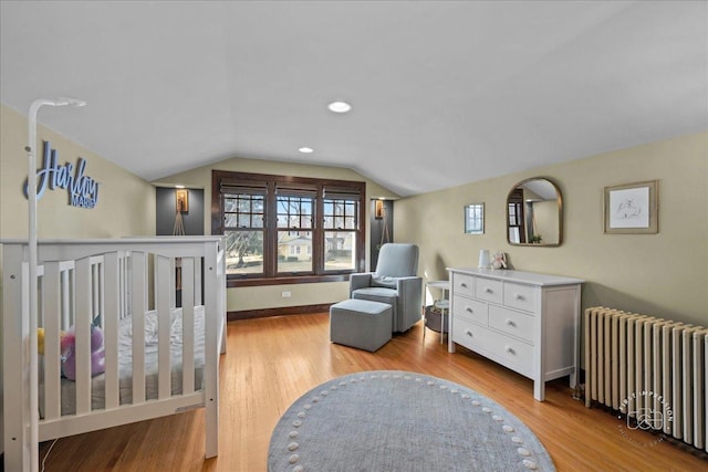
POLYGON ((517 270, 585 279, 583 307, 604 305, 708 325, 708 133, 679 137, 395 202, 395 238, 420 245, 419 273, 476 266, 480 249, 507 252, 517 270), (543 176, 563 193, 559 248, 507 243, 506 199, 543 176), (658 180, 658 234, 604 234, 605 186, 658 180), (464 234, 462 206, 485 202, 485 234, 464 234))

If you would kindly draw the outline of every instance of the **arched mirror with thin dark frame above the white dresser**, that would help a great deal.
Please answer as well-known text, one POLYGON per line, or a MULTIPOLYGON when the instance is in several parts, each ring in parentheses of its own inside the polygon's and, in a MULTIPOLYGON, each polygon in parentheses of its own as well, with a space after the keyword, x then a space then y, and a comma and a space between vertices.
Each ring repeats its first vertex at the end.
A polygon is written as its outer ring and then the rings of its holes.
POLYGON ((507 198, 507 240, 514 245, 560 245, 563 241, 561 190, 534 177, 517 183, 507 198))

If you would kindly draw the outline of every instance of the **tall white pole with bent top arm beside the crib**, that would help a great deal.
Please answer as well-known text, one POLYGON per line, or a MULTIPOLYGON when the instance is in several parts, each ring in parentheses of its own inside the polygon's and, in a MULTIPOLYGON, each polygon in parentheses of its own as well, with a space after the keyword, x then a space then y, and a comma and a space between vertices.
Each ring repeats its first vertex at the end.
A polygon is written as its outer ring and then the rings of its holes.
POLYGON ((39 379, 38 379, 38 350, 37 350, 37 328, 38 328, 38 249, 37 249, 37 115, 44 105, 49 106, 84 106, 86 102, 76 98, 58 98, 58 99, 35 99, 30 105, 28 116, 28 146, 24 148, 28 153, 28 175, 27 175, 27 196, 29 204, 29 234, 28 234, 28 252, 29 252, 29 277, 30 277, 30 358, 22 359, 22 365, 30 369, 30 437, 27 438, 29 444, 23 450, 30 451, 29 463, 23 459, 22 469, 32 471, 39 470, 39 379))

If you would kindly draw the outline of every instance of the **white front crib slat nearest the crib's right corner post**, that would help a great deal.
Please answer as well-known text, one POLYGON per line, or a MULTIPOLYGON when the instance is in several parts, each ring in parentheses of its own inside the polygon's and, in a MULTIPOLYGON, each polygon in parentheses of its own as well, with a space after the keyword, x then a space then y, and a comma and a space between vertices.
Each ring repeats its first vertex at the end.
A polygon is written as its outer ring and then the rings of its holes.
POLYGON ((181 260, 181 391, 195 391, 195 260, 181 260))

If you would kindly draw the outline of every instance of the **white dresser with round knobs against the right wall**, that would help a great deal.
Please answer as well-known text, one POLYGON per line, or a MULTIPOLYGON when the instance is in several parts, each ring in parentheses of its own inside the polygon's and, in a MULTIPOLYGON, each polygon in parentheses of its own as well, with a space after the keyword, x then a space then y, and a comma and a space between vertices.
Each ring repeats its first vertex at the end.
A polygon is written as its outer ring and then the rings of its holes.
POLYGON ((575 387, 583 280, 508 270, 448 271, 450 353, 459 344, 531 378, 539 401, 548 380, 570 375, 575 387))

